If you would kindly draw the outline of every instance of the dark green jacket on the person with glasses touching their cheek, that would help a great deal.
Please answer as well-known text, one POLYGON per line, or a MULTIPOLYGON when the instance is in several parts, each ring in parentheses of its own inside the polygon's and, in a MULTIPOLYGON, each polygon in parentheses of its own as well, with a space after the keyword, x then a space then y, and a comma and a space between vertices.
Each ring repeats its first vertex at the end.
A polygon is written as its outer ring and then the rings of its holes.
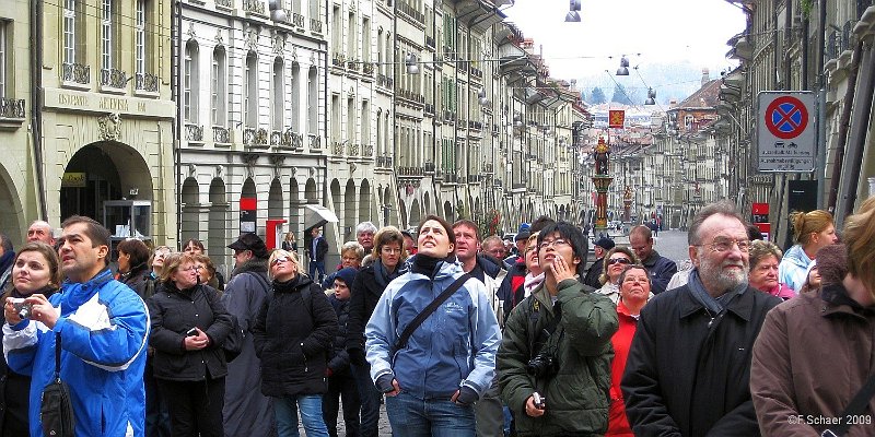
POLYGON ((506 319, 497 367, 501 399, 510 406, 518 436, 602 435, 608 429, 610 338, 617 331, 617 308, 576 280, 558 284, 562 318, 545 343, 559 358, 551 378, 529 376, 526 365, 538 351, 537 335, 552 320, 553 306, 544 284, 520 303, 506 319), (525 402, 537 391, 546 413, 530 417, 525 402))

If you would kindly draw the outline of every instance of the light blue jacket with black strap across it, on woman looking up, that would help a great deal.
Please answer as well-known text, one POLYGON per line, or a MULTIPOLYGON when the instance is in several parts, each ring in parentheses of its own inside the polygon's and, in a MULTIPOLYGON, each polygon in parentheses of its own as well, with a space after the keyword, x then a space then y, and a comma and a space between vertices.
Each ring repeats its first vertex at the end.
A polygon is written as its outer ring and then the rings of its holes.
POLYGON ((478 397, 495 374, 501 332, 482 282, 471 277, 395 351, 398 335, 441 292, 463 274, 442 262, 434 280, 407 272, 386 287, 364 330, 371 378, 394 374, 402 390, 420 399, 450 399, 462 386, 478 397))

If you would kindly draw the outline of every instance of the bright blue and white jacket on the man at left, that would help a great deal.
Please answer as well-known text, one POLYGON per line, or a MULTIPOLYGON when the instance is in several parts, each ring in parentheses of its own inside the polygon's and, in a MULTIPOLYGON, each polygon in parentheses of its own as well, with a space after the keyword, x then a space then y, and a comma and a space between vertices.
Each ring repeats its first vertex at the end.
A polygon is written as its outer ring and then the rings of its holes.
POLYGON ((55 333, 61 334, 61 380, 70 387, 75 435, 142 436, 143 369, 149 311, 107 269, 85 283, 65 282, 49 296, 60 312, 54 332, 32 320, 3 326, 13 370, 32 376, 31 436, 42 436, 40 394, 55 374, 55 333), (132 434, 128 434, 132 433, 132 434))

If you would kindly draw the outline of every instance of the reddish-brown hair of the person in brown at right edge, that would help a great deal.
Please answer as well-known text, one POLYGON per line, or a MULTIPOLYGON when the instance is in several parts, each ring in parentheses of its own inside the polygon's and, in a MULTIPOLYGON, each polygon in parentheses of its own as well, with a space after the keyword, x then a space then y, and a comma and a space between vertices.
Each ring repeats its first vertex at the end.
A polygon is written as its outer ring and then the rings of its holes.
POLYGON ((853 274, 875 297, 875 197, 860 205, 856 214, 844 221, 848 241, 848 273, 853 274))

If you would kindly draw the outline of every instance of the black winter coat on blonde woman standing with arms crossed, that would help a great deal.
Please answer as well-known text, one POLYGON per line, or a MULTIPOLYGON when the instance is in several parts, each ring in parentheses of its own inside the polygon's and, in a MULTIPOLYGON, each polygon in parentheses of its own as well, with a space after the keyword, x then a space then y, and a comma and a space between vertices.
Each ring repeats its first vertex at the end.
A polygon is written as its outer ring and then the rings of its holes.
POLYGON ((337 335, 337 316, 318 285, 299 274, 273 281, 252 328, 255 354, 261 359, 261 393, 282 398, 323 394, 328 351, 337 335), (310 288, 308 302, 301 291, 310 288))

